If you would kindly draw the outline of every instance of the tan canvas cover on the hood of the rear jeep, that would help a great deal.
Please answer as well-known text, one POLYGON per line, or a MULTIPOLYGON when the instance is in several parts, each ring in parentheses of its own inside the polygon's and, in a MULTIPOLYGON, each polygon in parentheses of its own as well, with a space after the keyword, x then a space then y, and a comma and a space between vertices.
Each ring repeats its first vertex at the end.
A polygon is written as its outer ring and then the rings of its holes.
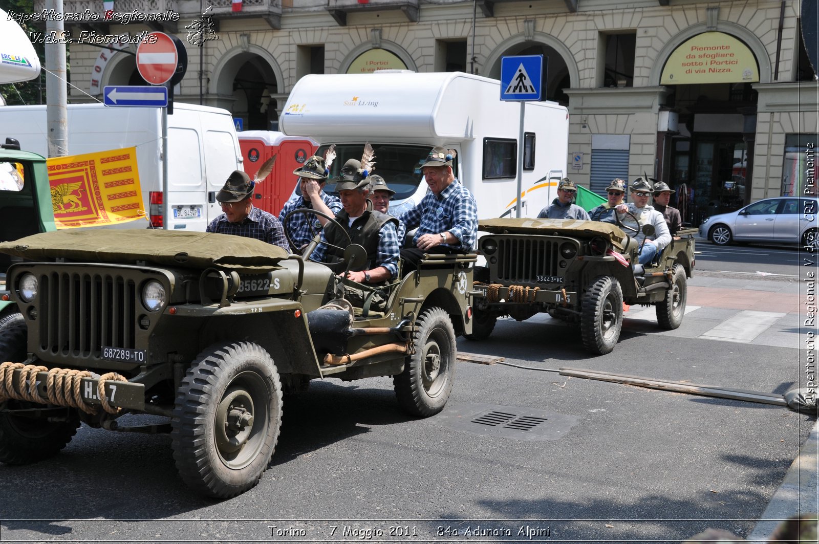
POLYGON ((626 234, 616 224, 577 219, 532 219, 527 217, 482 219, 477 229, 493 234, 557 234, 559 236, 602 236, 619 251, 626 247, 626 234))

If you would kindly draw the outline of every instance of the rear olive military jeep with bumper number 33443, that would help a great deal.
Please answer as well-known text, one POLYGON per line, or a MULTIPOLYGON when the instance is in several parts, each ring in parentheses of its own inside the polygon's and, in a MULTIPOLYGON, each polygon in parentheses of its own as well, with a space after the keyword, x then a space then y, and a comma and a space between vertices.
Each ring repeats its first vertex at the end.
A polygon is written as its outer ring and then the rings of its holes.
MULTIPOLYGON (((635 224, 636 221, 636 224, 635 224)), ((676 234, 635 274, 639 249, 633 235, 651 225, 550 219, 481 220, 486 234, 478 253, 486 266, 475 269, 472 340, 487 338, 498 317, 523 321, 539 312, 579 324, 586 349, 609 353, 620 338, 623 302, 657 308, 663 329, 680 326, 686 311, 686 280, 691 277, 696 229, 676 234)))

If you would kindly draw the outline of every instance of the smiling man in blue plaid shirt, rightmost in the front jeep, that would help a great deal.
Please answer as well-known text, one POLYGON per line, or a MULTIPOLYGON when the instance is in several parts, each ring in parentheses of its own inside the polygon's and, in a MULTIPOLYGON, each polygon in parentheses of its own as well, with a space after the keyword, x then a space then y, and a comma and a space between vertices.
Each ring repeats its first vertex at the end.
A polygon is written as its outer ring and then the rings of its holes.
POLYGON ((418 227, 416 248, 402 249, 404 271, 416 270, 424 253, 469 253, 477 238, 477 203, 452 171, 455 150, 434 147, 421 169, 429 192, 400 220, 406 228, 418 227))

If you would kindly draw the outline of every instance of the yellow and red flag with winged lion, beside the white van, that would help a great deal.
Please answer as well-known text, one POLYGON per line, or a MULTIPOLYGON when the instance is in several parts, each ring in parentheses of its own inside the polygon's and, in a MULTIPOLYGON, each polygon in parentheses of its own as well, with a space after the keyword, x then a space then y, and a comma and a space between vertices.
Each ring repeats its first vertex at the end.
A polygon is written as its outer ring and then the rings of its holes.
POLYGON ((147 219, 136 147, 57 156, 46 164, 57 229, 147 219))

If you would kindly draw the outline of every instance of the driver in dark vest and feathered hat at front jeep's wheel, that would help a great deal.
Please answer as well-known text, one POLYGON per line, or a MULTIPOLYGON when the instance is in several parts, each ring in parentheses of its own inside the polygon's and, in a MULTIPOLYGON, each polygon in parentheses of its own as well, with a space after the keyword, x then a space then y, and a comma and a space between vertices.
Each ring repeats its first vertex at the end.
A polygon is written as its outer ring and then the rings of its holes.
MULTIPOLYGON (((336 214, 336 220, 344 227, 352 243, 360 244, 367 252, 367 262, 358 270, 350 270, 347 279, 356 283, 378 284, 398 274, 398 220, 373 210, 367 197, 373 184, 369 172, 355 159, 346 161, 342 178, 336 190, 342 197, 344 209, 336 214)), ((321 243, 310 259, 326 262, 330 268, 343 270, 342 257, 347 237, 335 224, 328 224, 321 233, 321 243)))

